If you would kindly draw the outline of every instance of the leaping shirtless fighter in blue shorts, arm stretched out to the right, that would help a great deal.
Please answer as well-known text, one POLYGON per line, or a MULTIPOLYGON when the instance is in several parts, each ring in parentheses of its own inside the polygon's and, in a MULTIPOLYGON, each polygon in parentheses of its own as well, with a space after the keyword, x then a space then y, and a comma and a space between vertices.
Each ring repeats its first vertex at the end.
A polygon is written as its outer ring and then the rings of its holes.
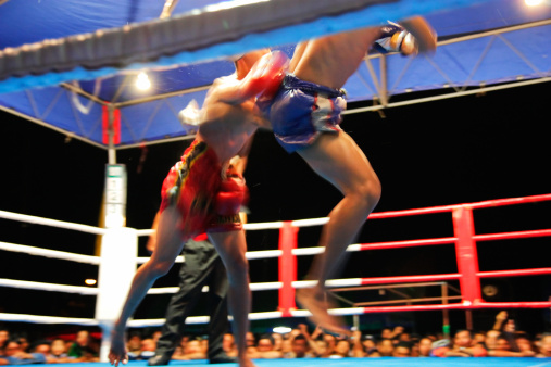
POLYGON ((312 313, 313 321, 338 333, 348 331, 327 313, 325 281, 335 275, 348 245, 380 198, 380 182, 367 157, 339 127, 340 113, 346 109, 341 88, 380 39, 387 39, 387 46, 391 46, 388 49, 404 54, 436 49, 436 36, 422 17, 406 20, 402 26, 413 37, 400 29, 387 33, 385 27, 370 27, 299 43, 277 94, 272 100, 259 100, 284 149, 298 152, 343 194, 322 231, 320 245, 325 252, 308 275, 317 284, 297 292, 297 300, 312 313))

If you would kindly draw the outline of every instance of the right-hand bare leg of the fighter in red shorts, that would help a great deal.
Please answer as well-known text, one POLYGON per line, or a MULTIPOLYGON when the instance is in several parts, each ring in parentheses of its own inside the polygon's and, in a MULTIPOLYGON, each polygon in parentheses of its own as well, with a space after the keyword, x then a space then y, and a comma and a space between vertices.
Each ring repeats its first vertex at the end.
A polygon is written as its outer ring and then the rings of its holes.
POLYGON ((218 251, 228 275, 229 311, 234 318, 233 331, 238 349, 240 367, 252 367, 254 364, 247 356, 245 336, 249 330, 249 312, 251 292, 249 290, 249 262, 245 257, 247 243, 242 230, 209 232, 209 238, 218 251))

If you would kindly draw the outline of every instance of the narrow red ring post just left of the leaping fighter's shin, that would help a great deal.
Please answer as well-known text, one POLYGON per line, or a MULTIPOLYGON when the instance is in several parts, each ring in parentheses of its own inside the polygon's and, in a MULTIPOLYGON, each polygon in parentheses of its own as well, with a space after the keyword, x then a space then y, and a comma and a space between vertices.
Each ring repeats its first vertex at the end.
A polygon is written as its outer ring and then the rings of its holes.
POLYGON ((283 283, 279 289, 279 307, 283 317, 290 317, 291 309, 297 309, 295 304, 295 288, 292 282, 297 280, 297 256, 292 254, 292 249, 297 249, 298 227, 293 227, 290 222, 284 222, 279 229, 279 250, 283 254, 279 256, 279 281, 283 283))

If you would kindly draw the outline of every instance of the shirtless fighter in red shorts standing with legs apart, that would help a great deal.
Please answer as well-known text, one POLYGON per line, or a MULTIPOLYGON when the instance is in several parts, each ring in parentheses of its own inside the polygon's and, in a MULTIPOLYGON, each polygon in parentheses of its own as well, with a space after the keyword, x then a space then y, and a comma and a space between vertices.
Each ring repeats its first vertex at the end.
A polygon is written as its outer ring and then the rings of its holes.
POLYGON ((163 184, 156 248, 134 276, 113 328, 111 364, 118 366, 128 360, 126 321, 147 291, 170 270, 188 239, 206 232, 228 275, 239 365, 254 366, 246 353, 251 295, 246 239, 238 213, 247 189, 239 163, 230 160, 248 147, 251 136, 263 124, 255 97, 280 84, 287 64, 283 53, 251 52, 236 61, 235 75, 213 84, 200 112, 196 140, 163 184))

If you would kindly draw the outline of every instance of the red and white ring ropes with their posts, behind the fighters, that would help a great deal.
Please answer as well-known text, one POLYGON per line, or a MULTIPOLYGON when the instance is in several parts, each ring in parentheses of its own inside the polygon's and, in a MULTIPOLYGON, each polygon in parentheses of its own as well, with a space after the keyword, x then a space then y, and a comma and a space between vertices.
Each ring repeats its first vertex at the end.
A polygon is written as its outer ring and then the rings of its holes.
MULTIPOLYGON (((417 210, 396 211, 373 213, 370 220, 384 220, 404 216, 425 216, 446 213, 450 215, 453 224, 454 236, 447 238, 415 239, 406 241, 388 241, 374 243, 354 243, 349 245, 348 252, 375 251, 383 249, 405 249, 416 246, 436 246, 454 245, 458 273, 424 275, 415 274, 409 276, 396 277, 374 277, 374 278, 348 278, 331 279, 327 281, 329 290, 354 290, 362 287, 401 287, 403 284, 427 287, 434 284, 446 284, 449 281, 459 281, 460 295, 449 296, 447 287, 442 287, 442 296, 422 300, 404 300, 404 303, 423 302, 425 304, 406 305, 376 305, 352 306, 345 308, 335 308, 329 312, 334 315, 356 316, 370 313, 398 313, 398 312, 421 312, 421 311, 441 311, 442 330, 449 332, 450 326, 447 324, 447 312, 450 309, 481 309, 481 308, 548 308, 551 302, 487 302, 484 300, 480 290, 480 280, 486 278, 499 277, 529 277, 544 276, 551 274, 551 268, 528 268, 514 270, 479 271, 477 260, 477 246, 483 246, 488 241, 529 239, 539 237, 551 237, 551 228, 523 230, 523 231, 503 231, 496 233, 476 235, 474 230, 473 212, 483 208, 497 208, 511 205, 534 204, 551 201, 551 194, 533 195, 525 198, 499 199, 477 203, 447 205, 426 207, 417 210), (428 302, 428 304, 427 304, 428 302)), ((48 218, 34 217, 23 214, 9 213, 0 211, 0 218, 32 223, 42 226, 52 226, 67 230, 82 231, 88 235, 100 235, 102 237, 102 251, 100 256, 79 255, 68 252, 52 251, 46 249, 33 248, 24 244, 0 242, 1 251, 22 252, 33 256, 42 256, 48 258, 58 258, 67 262, 86 263, 99 267, 98 286, 95 288, 76 287, 65 284, 52 284, 43 282, 21 281, 16 279, 0 279, 0 287, 10 287, 26 289, 28 291, 47 291, 51 293, 79 293, 96 296, 95 318, 64 318, 49 316, 34 316, 23 314, 0 313, 0 321, 18 321, 36 324, 66 324, 79 326, 98 326, 102 329, 103 336, 109 336, 111 326, 118 316, 118 312, 124 302, 126 290, 139 264, 147 261, 148 257, 137 256, 138 238, 150 236, 151 229, 134 228, 98 228, 74 223, 65 223, 48 218), (113 245, 115 244, 116 245, 113 245), (111 245, 110 245, 111 244, 111 245), (113 281, 117 279, 117 281, 113 281)), ((297 279, 297 258, 298 256, 313 256, 323 251, 322 248, 299 248, 298 232, 300 228, 311 226, 323 226, 328 218, 302 219, 292 222, 274 222, 247 224, 247 231, 273 230, 279 231, 278 248, 264 251, 248 251, 247 258, 250 262, 255 260, 272 258, 278 262, 279 275, 278 281, 258 282, 254 280, 254 274, 251 274, 251 291, 277 291, 278 304, 274 305, 271 312, 253 312, 249 315, 251 320, 280 319, 283 317, 306 317, 309 312, 298 309, 295 303, 295 290, 310 287, 311 281, 301 281, 297 279)), ((254 248, 254 243, 248 244, 249 249, 254 248)), ((178 262, 183 258, 178 257, 178 262)), ((174 293, 177 287, 153 288, 148 292, 147 298, 159 294, 174 293)), ((208 316, 188 317, 187 324, 206 324, 208 316)), ((160 327, 164 319, 132 319, 128 321, 129 328, 160 327)), ((467 320, 468 326, 468 320, 467 320)), ((107 351, 109 350, 109 338, 102 339, 101 356, 107 360, 107 351)))

